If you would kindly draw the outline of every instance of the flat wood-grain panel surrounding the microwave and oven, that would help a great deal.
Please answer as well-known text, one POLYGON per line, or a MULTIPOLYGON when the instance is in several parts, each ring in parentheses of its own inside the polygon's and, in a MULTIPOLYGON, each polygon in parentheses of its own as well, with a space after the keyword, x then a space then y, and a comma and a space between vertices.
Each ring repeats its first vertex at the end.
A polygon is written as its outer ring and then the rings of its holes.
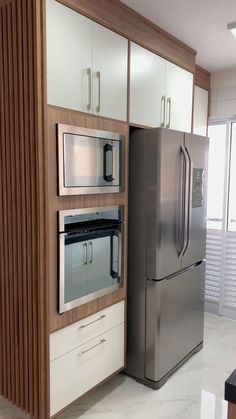
POLYGON ((49 310, 50 331, 65 327, 75 321, 93 314, 121 299, 126 298, 127 277, 127 216, 128 216, 128 124, 107 118, 98 118, 76 111, 48 106, 47 113, 47 144, 48 144, 48 182, 49 182, 49 310), (119 132, 126 135, 125 140, 125 192, 120 194, 58 196, 57 194, 57 138, 56 124, 63 123, 81 127, 95 128, 105 131, 119 132), (58 294, 58 258, 57 258, 57 211, 70 208, 89 208, 104 205, 123 205, 125 209, 124 234, 124 288, 112 294, 100 297, 78 308, 59 315, 57 312, 58 294))

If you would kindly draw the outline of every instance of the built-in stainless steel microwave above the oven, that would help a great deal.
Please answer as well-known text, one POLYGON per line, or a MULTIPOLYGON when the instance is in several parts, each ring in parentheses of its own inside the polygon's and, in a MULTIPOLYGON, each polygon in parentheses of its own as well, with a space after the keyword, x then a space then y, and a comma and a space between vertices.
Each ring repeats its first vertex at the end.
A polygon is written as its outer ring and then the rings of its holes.
POLYGON ((57 125, 59 195, 122 192, 124 135, 57 125))

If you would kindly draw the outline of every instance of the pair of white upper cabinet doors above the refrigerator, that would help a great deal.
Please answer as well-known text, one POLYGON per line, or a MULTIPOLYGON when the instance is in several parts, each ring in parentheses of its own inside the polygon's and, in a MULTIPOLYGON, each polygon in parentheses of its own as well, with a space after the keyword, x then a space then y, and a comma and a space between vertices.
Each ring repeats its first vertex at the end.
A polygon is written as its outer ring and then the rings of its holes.
POLYGON ((130 122, 191 132, 193 75, 131 43, 130 122))

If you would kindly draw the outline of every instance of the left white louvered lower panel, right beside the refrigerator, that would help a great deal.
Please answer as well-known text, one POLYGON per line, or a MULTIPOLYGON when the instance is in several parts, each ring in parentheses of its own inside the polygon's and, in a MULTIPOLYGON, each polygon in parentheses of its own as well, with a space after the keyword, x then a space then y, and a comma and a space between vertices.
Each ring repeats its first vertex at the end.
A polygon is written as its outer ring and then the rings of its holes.
POLYGON ((207 230, 205 299, 220 302, 222 234, 220 230, 207 230))

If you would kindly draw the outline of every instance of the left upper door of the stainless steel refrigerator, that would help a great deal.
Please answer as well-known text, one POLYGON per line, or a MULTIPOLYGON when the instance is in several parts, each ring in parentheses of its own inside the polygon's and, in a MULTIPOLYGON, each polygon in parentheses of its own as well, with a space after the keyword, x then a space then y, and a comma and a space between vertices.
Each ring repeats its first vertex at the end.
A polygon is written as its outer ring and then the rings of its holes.
POLYGON ((183 142, 184 134, 179 131, 148 130, 144 174, 147 183, 146 276, 152 279, 164 278, 181 269, 183 142))

